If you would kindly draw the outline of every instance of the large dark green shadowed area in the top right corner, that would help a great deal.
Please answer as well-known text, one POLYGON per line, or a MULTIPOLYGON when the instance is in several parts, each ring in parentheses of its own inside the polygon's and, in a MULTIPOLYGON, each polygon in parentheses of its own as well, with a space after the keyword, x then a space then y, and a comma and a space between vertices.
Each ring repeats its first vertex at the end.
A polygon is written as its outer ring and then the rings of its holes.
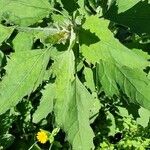
POLYGON ((123 24, 131 29, 131 31, 142 34, 150 34, 150 4, 148 0, 140 1, 132 8, 118 14, 118 6, 115 4, 104 15, 106 19, 113 22, 123 24))

